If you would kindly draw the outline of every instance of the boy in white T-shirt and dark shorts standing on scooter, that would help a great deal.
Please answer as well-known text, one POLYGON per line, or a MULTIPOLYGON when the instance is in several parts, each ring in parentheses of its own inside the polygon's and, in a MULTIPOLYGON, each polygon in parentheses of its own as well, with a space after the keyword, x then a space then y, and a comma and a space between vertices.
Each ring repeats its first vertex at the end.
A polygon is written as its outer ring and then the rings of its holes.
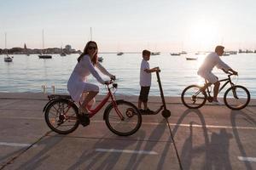
POLYGON ((148 114, 153 113, 154 111, 150 111, 148 109, 148 94, 151 86, 151 73, 158 71, 158 67, 154 67, 152 69, 149 68, 148 60, 150 59, 151 52, 148 50, 143 50, 143 60, 141 63, 141 71, 140 71, 140 96, 138 99, 138 109, 141 112, 147 112, 148 114), (142 109, 142 103, 144 105, 144 110, 142 109))

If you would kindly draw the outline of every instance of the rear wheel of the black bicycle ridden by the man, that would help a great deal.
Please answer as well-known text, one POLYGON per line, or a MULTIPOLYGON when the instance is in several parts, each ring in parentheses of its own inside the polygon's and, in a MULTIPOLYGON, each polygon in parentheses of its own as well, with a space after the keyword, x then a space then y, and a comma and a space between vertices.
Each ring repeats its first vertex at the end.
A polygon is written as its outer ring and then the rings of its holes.
POLYGON ((189 109, 197 109, 202 105, 205 105, 207 101, 207 94, 205 91, 201 91, 200 86, 190 85, 183 89, 181 99, 183 105, 187 106, 189 109))

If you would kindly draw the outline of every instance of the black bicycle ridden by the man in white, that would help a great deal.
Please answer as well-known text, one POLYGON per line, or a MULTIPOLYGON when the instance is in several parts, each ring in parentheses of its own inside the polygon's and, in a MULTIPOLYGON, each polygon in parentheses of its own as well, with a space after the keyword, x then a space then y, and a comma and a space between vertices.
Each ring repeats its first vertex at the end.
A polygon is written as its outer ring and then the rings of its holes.
MULTIPOLYGON (((235 85, 231 81, 231 76, 234 74, 231 72, 226 72, 228 74, 228 78, 219 80, 218 82, 224 82, 224 84, 219 88, 219 92, 224 89, 224 87, 230 84, 230 88, 228 88, 224 93, 224 104, 232 110, 241 110, 245 108, 250 102, 250 93, 247 88, 235 85)), ((190 85, 187 88, 184 88, 183 93, 181 95, 181 99, 183 105, 187 106, 190 109, 200 108, 202 105, 205 105, 206 101, 212 103, 211 96, 211 83, 204 84, 203 87, 198 85, 190 85)))

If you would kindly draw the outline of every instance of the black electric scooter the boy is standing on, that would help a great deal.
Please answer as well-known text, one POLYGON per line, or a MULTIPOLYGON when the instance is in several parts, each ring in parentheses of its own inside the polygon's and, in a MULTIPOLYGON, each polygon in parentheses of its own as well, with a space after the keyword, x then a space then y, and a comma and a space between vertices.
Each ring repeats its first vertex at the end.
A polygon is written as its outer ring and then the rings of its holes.
POLYGON ((166 108, 166 100, 165 100, 165 96, 164 96, 164 92, 163 92, 159 72, 160 72, 160 70, 155 71, 156 77, 157 77, 157 82, 158 82, 159 89, 160 89, 160 96, 161 96, 161 99, 162 99, 162 105, 160 105, 160 108, 158 110, 156 110, 152 113, 141 112, 141 114, 142 115, 156 115, 156 114, 160 113, 160 111, 163 110, 161 112, 161 114, 162 114, 163 117, 167 118, 167 117, 171 116, 171 111, 167 110, 167 108, 166 108))

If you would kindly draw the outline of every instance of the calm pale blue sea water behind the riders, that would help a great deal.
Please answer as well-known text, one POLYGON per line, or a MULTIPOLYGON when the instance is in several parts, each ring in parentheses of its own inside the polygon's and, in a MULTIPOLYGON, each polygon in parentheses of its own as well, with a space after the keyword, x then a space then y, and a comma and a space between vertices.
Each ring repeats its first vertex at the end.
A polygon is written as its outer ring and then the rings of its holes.
MULTIPOLYGON (((205 55, 197 55, 197 60, 186 60, 186 54, 172 56, 170 54, 160 54, 151 56, 150 67, 159 66, 161 69, 160 78, 166 96, 180 96, 183 88, 190 84, 202 83, 196 71, 201 65, 205 55)), ((52 59, 38 59, 38 55, 14 55, 12 63, 3 61, 0 55, 0 92, 43 92, 42 85, 45 85, 47 92, 52 92, 55 86, 55 93, 67 93, 67 80, 77 63, 79 54, 71 54, 61 57, 54 54, 52 59)), ((119 89, 117 94, 138 95, 139 70, 142 60, 141 54, 99 54, 104 58, 102 65, 116 75, 119 89)), ((234 70, 239 72, 239 77, 234 77, 236 84, 245 86, 256 99, 256 54, 236 54, 223 56, 222 59, 234 70)), ((225 78, 225 74, 220 70, 213 70, 219 78, 225 78)), ((104 76, 103 76, 104 77, 104 76)), ((107 80, 107 77, 104 77, 107 80)), ((94 77, 89 78, 90 82, 96 82, 94 77)), ((96 82, 101 87, 101 94, 106 92, 103 85, 96 82)), ((160 95, 156 75, 152 75, 152 86, 150 94, 160 95)), ((220 95, 221 96, 221 95, 220 95)))

